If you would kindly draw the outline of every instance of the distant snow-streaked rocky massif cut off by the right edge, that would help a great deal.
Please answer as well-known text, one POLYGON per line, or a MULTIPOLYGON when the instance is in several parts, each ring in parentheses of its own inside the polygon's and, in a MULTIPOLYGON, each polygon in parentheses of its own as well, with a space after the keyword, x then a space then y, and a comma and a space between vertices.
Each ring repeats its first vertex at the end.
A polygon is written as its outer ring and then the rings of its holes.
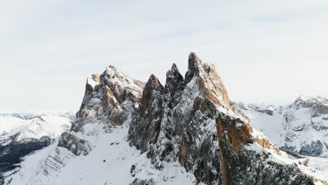
POLYGON ((328 99, 297 98, 286 110, 282 128, 284 150, 328 157, 328 99))

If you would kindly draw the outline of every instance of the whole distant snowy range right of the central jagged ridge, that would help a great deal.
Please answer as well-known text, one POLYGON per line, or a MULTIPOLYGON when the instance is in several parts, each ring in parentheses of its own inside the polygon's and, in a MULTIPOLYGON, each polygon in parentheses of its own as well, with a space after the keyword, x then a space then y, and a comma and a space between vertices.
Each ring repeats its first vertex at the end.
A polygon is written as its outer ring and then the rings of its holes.
POLYGON ((298 97, 288 107, 234 103, 254 128, 283 151, 328 157, 328 100, 298 97))

